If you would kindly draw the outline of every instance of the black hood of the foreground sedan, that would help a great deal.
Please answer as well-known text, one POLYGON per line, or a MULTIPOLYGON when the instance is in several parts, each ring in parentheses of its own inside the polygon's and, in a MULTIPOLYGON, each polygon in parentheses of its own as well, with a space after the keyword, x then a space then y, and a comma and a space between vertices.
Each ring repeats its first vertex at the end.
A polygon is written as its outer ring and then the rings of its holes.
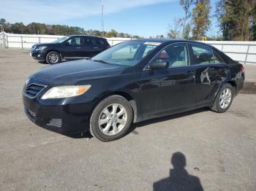
POLYGON ((75 85, 86 79, 116 76, 125 69, 127 66, 79 60, 47 66, 37 71, 32 77, 51 85, 75 85))

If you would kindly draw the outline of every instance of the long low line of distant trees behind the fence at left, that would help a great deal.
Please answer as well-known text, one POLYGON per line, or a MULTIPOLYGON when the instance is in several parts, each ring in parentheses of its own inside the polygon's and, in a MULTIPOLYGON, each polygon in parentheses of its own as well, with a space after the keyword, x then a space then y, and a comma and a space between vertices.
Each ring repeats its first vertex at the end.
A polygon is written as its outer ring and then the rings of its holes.
POLYGON ((0 19, 0 27, 4 28, 4 31, 12 34, 49 34, 49 35, 73 35, 73 34, 86 34, 105 37, 121 37, 121 38, 135 38, 140 39, 140 36, 131 36, 127 33, 118 33, 111 29, 110 31, 98 31, 88 30, 78 26, 66 26, 66 25, 47 25, 44 23, 29 23, 27 26, 23 23, 8 23, 4 18, 0 19))

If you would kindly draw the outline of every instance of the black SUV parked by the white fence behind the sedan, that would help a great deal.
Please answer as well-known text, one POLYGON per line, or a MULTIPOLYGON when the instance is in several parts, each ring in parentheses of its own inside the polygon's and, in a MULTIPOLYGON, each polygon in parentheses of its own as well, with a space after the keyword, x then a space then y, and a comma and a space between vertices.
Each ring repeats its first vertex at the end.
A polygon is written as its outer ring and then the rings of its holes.
POLYGON ((37 61, 53 64, 62 59, 91 58, 109 47, 107 39, 98 36, 64 36, 52 43, 34 44, 30 55, 37 61))

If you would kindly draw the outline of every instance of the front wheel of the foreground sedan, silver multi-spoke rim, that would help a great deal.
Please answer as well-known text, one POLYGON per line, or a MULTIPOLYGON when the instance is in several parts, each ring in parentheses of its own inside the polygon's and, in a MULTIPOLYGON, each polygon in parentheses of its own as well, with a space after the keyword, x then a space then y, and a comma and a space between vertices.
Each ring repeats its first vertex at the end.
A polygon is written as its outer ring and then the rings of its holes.
POLYGON ((91 136, 105 142, 120 139, 129 130, 132 118, 132 106, 126 98, 120 95, 105 98, 91 114, 91 136))

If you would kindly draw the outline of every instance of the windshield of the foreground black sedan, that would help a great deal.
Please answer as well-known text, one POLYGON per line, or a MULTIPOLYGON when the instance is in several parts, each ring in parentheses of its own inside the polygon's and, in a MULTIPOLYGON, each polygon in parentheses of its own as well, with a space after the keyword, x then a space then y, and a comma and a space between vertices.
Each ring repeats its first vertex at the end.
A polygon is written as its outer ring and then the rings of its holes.
POLYGON ((159 44, 157 42, 122 42, 99 53, 99 55, 94 56, 91 60, 121 66, 135 66, 159 44))

